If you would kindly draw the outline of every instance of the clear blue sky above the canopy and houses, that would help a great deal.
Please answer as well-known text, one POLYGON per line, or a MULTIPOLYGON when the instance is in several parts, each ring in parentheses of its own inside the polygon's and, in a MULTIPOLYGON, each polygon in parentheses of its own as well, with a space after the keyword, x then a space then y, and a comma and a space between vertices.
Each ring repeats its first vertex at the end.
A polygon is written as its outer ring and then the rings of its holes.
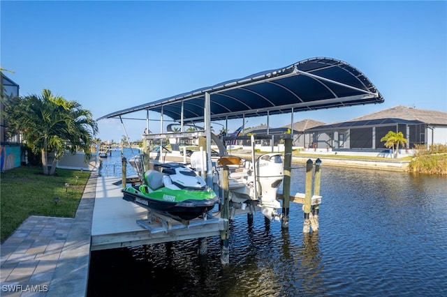
MULTIPOLYGON (((358 68, 385 102, 298 112, 294 121, 346 121, 396 105, 447 112, 446 1, 2 0, 0 9, 1 66, 15 71, 5 74, 20 95, 50 89, 95 119, 315 56, 358 68)), ((270 117, 273 127, 290 121, 270 117)), ((124 123, 140 139, 145 122, 124 123)), ((230 132, 241 123, 229 121, 230 132)), ((124 135, 118 120, 98 126, 102 140, 124 135)))

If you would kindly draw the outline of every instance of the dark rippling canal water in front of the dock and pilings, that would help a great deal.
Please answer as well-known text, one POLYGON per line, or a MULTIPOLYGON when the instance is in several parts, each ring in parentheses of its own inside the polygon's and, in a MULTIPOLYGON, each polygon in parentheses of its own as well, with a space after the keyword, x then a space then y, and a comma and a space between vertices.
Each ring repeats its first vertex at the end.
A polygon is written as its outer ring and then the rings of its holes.
MULTIPOLYGON (((230 222, 230 264, 219 236, 91 252, 87 296, 447 296, 447 179, 322 164, 320 231, 230 222)), ((305 192, 305 168, 292 192, 305 192)))

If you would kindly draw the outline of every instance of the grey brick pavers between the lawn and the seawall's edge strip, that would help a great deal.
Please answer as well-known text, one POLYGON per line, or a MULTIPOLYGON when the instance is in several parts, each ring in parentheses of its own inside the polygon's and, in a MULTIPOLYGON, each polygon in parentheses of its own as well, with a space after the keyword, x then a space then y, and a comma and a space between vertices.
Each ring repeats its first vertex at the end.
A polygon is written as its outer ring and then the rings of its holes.
POLYGON ((20 225, 1 245, 1 296, 48 290, 73 221, 33 215, 20 225))

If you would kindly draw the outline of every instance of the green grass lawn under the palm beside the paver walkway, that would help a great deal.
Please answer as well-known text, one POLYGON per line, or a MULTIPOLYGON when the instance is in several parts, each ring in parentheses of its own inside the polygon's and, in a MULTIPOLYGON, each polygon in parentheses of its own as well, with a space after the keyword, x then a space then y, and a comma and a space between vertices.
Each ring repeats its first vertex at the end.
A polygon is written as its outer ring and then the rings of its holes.
POLYGON ((42 167, 17 167, 1 173, 1 242, 30 215, 74 218, 90 172, 56 169, 44 176, 42 167), (76 178, 78 176, 78 178, 76 178), (57 203, 54 197, 59 197, 57 203))

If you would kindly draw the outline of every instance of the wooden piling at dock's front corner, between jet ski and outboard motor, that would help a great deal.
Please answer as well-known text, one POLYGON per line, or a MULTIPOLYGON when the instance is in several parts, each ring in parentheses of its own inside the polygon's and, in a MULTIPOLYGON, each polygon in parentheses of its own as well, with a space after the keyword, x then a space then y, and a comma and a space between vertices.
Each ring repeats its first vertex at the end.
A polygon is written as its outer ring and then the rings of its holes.
POLYGON ((221 218, 227 219, 225 229, 221 233, 221 264, 230 264, 230 248, 228 238, 230 238, 230 199, 228 197, 228 166, 222 166, 222 190, 223 199, 221 201, 221 218))

